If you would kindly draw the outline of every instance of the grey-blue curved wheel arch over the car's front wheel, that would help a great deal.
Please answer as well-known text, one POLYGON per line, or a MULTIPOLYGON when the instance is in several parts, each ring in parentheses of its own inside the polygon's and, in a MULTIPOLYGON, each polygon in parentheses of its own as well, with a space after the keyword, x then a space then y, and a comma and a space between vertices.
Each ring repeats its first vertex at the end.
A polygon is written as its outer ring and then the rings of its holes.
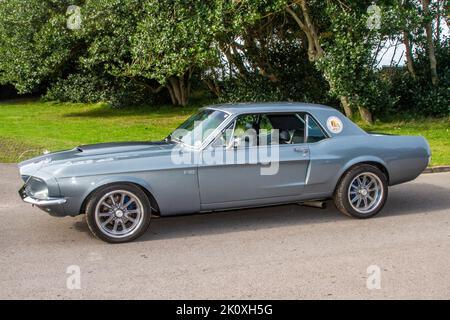
POLYGON ((105 188, 105 187, 108 187, 108 186, 111 186, 114 184, 119 184, 119 183, 134 185, 134 186, 138 187, 139 189, 141 189, 150 201, 152 213, 156 214, 156 215, 160 215, 160 208, 159 208, 158 202, 154 196, 154 192, 153 192, 152 188, 145 181, 140 181, 140 179, 134 179, 134 178, 121 178, 121 179, 114 179, 114 180, 108 179, 108 180, 104 180, 99 183, 96 183, 95 186, 90 188, 83 196, 83 202, 81 203, 79 214, 85 213, 87 202, 94 192, 98 191, 101 188, 105 188))

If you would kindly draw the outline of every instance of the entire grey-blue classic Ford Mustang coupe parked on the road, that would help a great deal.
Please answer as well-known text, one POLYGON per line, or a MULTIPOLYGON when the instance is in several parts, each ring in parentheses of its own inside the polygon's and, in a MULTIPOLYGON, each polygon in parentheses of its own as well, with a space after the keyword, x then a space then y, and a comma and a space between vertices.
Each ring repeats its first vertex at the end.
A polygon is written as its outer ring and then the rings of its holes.
POLYGON ((423 137, 369 134, 304 103, 213 105, 162 141, 81 145, 19 164, 21 198, 52 216, 85 214, 98 238, 136 239, 152 216, 321 204, 369 218, 388 186, 428 165, 423 137))

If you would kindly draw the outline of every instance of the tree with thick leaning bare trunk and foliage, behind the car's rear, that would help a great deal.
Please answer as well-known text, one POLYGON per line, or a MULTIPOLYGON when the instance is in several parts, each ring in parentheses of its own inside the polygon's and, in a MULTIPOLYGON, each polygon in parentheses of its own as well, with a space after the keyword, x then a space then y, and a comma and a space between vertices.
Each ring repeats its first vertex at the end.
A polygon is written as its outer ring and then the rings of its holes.
POLYGON ((286 6, 306 35, 310 60, 324 73, 346 115, 352 116, 356 107, 368 123, 380 108, 374 98, 384 100, 386 94, 376 75, 374 52, 383 37, 397 32, 401 10, 394 1, 377 4, 378 17, 368 13, 371 1, 298 0, 286 6), (368 19, 380 19, 379 26, 369 28, 368 19))

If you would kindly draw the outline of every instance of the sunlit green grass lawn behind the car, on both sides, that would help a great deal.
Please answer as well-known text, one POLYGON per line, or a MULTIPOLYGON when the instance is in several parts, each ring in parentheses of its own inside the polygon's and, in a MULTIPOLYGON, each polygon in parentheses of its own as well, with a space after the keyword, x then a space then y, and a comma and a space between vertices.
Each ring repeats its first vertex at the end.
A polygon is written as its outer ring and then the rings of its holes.
MULTIPOLYGON (((87 143, 162 139, 199 107, 112 109, 106 104, 3 102, 0 103, 0 162, 18 162, 43 150, 69 149, 87 143)), ((363 128, 423 135, 433 152, 432 165, 450 165, 449 119, 394 121, 363 128)))

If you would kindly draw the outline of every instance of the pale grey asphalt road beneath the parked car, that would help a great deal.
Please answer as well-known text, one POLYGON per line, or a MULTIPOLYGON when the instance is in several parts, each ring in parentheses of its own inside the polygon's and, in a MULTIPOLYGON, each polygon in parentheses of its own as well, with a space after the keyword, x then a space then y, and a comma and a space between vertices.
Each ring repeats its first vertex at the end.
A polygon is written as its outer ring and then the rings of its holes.
POLYGON ((450 173, 391 188, 369 220, 286 205, 155 219, 123 245, 22 203, 19 186, 0 165, 2 299, 450 299, 450 173), (81 289, 67 288, 72 265, 81 289))

